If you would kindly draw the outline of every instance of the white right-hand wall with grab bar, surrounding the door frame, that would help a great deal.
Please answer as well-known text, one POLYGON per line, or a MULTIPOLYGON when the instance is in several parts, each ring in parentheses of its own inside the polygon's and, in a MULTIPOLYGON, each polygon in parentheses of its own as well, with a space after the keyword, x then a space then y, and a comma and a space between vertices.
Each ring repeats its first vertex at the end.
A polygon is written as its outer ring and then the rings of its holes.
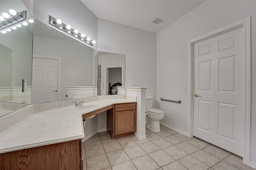
MULTIPOLYGON (((163 122, 187 132, 189 40, 252 16, 252 138, 251 161, 256 163, 256 1, 206 1, 157 34, 157 107, 165 111, 163 122), (182 100, 181 104, 159 98, 182 100)), ((189 87, 188 87, 189 88, 189 87)), ((256 164, 255 164, 256 165, 256 164)))

